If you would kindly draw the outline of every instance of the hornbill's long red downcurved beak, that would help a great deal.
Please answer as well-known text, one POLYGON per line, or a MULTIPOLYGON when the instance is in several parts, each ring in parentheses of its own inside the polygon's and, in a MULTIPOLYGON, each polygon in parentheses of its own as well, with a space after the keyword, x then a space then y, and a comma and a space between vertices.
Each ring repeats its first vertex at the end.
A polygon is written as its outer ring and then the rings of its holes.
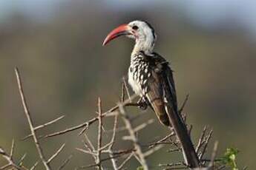
POLYGON ((129 35, 131 34, 129 31, 128 24, 122 24, 119 27, 116 27, 114 30, 111 31, 111 33, 108 34, 108 36, 105 38, 102 46, 105 46, 105 44, 108 44, 109 41, 113 40, 114 38, 117 38, 121 35, 129 35))

